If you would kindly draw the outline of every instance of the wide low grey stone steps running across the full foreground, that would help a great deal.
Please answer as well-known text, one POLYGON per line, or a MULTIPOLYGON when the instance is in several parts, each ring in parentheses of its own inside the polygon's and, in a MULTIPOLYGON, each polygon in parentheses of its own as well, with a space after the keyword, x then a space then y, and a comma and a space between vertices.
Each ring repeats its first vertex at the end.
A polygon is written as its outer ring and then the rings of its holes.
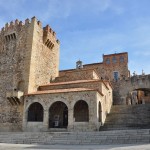
POLYGON ((150 129, 97 132, 1 132, 0 143, 108 145, 150 143, 150 129))

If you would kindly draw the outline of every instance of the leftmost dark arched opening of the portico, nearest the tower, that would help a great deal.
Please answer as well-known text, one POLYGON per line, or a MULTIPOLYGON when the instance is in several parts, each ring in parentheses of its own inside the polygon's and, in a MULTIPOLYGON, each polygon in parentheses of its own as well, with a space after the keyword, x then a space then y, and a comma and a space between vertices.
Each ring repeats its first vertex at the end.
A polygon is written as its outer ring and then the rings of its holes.
POLYGON ((28 122, 42 122, 43 121, 43 106, 35 102, 30 105, 28 109, 28 122))

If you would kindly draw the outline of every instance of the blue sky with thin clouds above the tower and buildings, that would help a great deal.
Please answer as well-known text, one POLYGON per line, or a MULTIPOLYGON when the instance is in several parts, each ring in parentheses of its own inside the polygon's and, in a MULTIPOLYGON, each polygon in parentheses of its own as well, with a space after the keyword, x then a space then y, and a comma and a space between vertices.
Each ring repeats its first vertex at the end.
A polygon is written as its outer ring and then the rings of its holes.
POLYGON ((131 73, 150 73, 150 0, 0 0, 1 28, 33 16, 56 31, 60 69, 128 52, 131 73))

